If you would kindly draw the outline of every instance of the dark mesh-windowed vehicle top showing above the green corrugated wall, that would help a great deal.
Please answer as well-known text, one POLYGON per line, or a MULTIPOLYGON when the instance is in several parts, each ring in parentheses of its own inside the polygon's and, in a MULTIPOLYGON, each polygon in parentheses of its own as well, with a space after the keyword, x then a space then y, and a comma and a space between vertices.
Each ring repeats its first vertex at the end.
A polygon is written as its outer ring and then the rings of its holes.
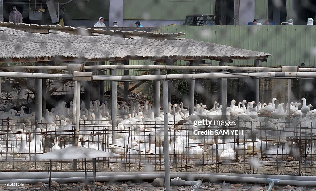
POLYGON ((187 15, 184 25, 217 25, 215 21, 216 15, 187 15))

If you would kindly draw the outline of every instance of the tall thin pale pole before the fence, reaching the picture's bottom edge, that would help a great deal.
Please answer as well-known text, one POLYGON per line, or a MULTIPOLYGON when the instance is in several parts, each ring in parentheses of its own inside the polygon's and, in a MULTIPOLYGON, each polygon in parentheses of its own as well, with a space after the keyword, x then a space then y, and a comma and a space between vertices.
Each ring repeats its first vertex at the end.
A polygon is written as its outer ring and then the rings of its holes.
POLYGON ((168 81, 162 82, 163 86, 163 126, 164 126, 164 159, 165 159, 165 182, 166 190, 170 191, 170 167, 169 167, 169 122, 168 122, 168 81))

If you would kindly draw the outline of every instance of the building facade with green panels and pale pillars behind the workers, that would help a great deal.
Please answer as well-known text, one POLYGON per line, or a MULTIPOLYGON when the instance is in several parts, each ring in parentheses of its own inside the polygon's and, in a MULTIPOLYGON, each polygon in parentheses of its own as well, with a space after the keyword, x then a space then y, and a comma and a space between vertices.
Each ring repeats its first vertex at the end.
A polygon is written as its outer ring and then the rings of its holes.
POLYGON ((51 20, 51 13, 55 12, 65 25, 74 27, 93 27, 99 16, 107 27, 112 27, 114 21, 119 27, 135 27, 136 21, 144 27, 181 25, 185 16, 192 14, 216 15, 222 25, 247 25, 254 19, 262 23, 268 19, 276 25, 289 19, 295 25, 307 24, 309 17, 316 20, 315 0, 58 0, 54 1, 53 10, 47 9, 47 0, 42 2, 0 0, 0 16, 9 21, 9 13, 16 6, 24 23, 58 24, 51 20), (36 10, 41 8, 46 11, 34 19, 36 10))

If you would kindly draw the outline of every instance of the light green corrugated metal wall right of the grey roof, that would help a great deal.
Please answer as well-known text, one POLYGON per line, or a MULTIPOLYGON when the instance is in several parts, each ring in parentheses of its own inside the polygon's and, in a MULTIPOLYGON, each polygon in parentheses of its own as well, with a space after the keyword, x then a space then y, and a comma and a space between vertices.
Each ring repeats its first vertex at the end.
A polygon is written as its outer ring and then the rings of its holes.
MULTIPOLYGON (((271 53, 265 67, 301 66, 315 67, 315 25, 227 25, 227 26, 161 26, 161 33, 183 32, 181 38, 201 40, 221 45, 235 46, 252 51, 271 53)), ((216 61, 207 61, 218 65, 216 61)), ((253 61, 234 60, 231 65, 253 65, 253 61)))

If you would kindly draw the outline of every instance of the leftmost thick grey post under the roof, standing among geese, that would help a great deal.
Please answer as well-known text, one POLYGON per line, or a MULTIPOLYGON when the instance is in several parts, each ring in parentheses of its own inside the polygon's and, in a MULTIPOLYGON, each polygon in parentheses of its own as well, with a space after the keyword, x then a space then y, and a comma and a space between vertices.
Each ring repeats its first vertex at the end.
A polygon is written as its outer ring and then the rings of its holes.
MULTIPOLYGON (((35 63, 36 66, 41 65, 35 63)), ((36 70, 37 73, 42 73, 42 70, 36 70)), ((35 88, 35 122, 36 128, 41 128, 41 120, 43 116, 43 80, 36 78, 34 81, 35 88)))

